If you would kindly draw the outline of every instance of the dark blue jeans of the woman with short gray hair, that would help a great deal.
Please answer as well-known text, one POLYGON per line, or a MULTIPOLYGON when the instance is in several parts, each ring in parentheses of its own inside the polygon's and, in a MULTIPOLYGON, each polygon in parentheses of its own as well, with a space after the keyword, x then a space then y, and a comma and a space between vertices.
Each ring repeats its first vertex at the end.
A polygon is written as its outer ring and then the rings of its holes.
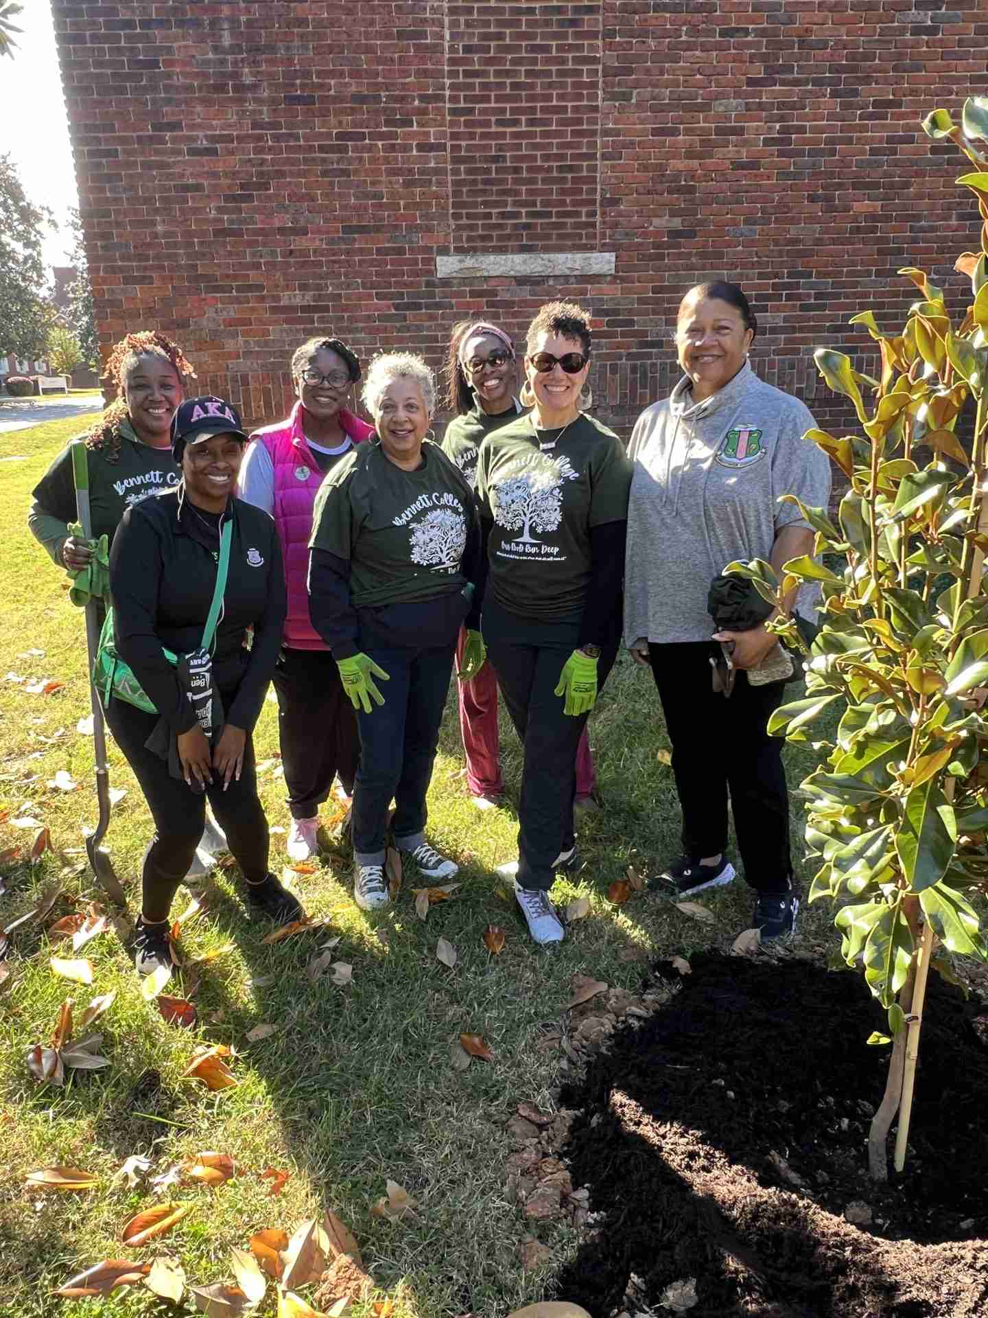
POLYGON ((383 646, 361 633, 358 645, 389 675, 374 679, 385 697, 370 713, 357 710, 360 766, 353 787, 353 858, 383 865, 387 808, 395 800, 395 845, 414 850, 424 841, 425 792, 439 746, 439 725, 449 691, 456 634, 445 646, 383 646))

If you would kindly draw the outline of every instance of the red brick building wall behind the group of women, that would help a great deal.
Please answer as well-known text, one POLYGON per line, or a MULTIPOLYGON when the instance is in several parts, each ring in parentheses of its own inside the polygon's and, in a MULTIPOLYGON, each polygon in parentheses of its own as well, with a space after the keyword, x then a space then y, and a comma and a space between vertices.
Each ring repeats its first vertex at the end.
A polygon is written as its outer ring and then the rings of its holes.
POLYGON ((101 341, 177 335, 253 420, 316 330, 439 365, 454 320, 520 333, 568 297, 626 432, 674 380, 678 297, 728 275, 757 369, 838 424, 810 349, 863 344, 868 306, 894 324, 898 266, 964 295, 976 214, 918 120, 984 90, 975 0, 51 8, 101 341), (436 275, 445 253, 588 250, 614 274, 436 275))

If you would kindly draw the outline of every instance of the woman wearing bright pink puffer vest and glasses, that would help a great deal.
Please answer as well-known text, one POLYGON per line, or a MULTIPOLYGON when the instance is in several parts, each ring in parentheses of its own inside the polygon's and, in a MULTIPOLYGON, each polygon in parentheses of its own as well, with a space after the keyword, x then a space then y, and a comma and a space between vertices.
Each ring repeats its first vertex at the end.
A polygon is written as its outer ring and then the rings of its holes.
POLYGON ((240 497, 270 513, 278 527, 288 588, 285 645, 274 671, 282 766, 288 788, 287 851, 307 861, 317 851, 319 807, 339 775, 353 793, 360 741, 353 705, 336 660, 308 619, 308 540, 323 477, 354 444, 374 432, 344 407, 360 380, 360 361, 339 339, 310 339, 291 358, 298 402, 287 420, 250 436, 240 468, 240 497))

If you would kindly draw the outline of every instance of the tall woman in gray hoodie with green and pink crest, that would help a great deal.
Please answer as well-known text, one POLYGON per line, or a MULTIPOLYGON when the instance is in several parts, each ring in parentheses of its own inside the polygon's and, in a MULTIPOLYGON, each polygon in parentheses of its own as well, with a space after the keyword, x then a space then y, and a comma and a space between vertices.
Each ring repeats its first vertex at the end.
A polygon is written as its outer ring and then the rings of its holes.
MULTIPOLYGON (((826 507, 830 463, 802 438, 814 426, 808 409, 748 365, 756 331, 734 283, 698 285, 680 303, 684 378, 642 413, 628 445, 624 642, 652 670, 672 742, 684 854, 665 878, 680 896, 731 882, 730 793, 744 878, 757 892, 754 925, 767 940, 792 933, 800 904, 782 743, 767 731, 784 684, 748 681, 776 639, 763 626, 714 631, 707 590, 736 559, 767 559, 779 571, 813 552, 800 510, 779 500, 826 507), (739 670, 728 700, 711 681, 721 642, 734 643, 739 670)), ((809 593, 786 604, 806 618, 813 612, 809 593)))

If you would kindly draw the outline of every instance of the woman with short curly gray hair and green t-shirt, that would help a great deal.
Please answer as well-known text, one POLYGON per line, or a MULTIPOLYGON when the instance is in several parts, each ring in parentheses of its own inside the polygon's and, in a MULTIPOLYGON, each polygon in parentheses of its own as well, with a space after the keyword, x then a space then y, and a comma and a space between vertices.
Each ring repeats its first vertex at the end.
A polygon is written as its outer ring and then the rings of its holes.
POLYGON ((427 879, 456 862, 425 841, 425 792, 439 745, 460 626, 480 563, 473 492, 425 436, 432 372, 411 352, 375 357, 364 385, 370 443, 325 477, 310 540, 312 626, 336 658, 357 710, 353 896, 387 905, 387 808, 395 846, 427 879), (389 683, 385 692, 377 681, 389 683))

